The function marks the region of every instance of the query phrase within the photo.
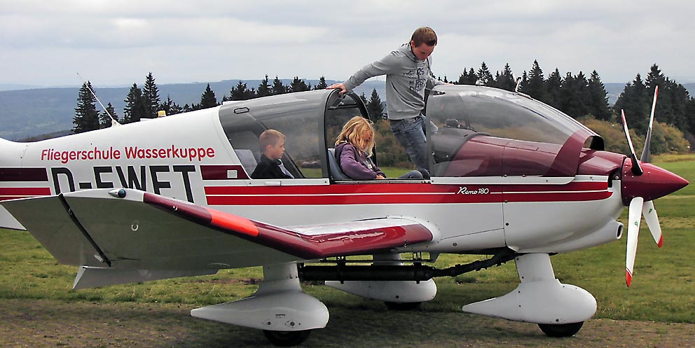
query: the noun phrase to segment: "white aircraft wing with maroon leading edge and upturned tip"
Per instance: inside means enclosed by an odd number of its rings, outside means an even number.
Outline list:
[[[209,274],[378,253],[433,238],[425,226],[406,218],[287,229],[132,189],[83,190],[0,204],[60,263],[112,270]]]

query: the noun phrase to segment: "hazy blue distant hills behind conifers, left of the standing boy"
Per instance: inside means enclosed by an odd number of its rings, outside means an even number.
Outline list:
[[[318,80],[306,80],[311,85],[316,85]],[[239,80],[225,80],[211,82],[210,88],[215,92],[220,101],[224,95],[229,95],[229,90],[237,85]],[[243,80],[247,88],[257,88],[261,80]],[[282,79],[284,85],[289,85],[291,80]],[[326,80],[329,85],[335,83]],[[205,91],[205,83],[176,83],[158,85],[160,98],[165,100],[169,96],[174,102],[184,104],[196,104],[200,102],[200,95]],[[9,86],[9,85],[4,85]],[[28,87],[28,86],[22,86]],[[139,85],[142,88],[142,85]],[[383,81],[367,81],[355,89],[357,94],[364,94],[369,98],[373,89],[380,96],[385,96],[385,84]],[[116,109],[116,113],[123,118],[123,107],[128,88],[96,88],[95,92],[104,105],[109,102]],[[0,91],[0,137],[9,140],[22,140],[38,137],[42,134],[64,134],[73,127],[72,118],[75,115],[79,88],[38,88],[24,90]],[[385,97],[382,97],[385,99]],[[97,104],[97,110],[102,111]]]

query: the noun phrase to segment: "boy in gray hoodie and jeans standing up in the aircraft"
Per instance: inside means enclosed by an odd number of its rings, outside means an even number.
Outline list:
[[[365,65],[343,83],[328,89],[352,91],[367,78],[386,75],[386,106],[391,131],[418,169],[429,169],[425,146],[425,89],[443,85],[432,76],[436,34],[430,27],[415,29],[411,41],[376,62]]]

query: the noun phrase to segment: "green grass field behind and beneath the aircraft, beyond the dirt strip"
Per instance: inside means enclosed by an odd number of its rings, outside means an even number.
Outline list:
[[[695,155],[663,156],[654,163],[695,182]],[[593,249],[551,258],[556,277],[591,292],[598,301],[596,318],[695,323],[695,185],[655,202],[664,234],[658,249],[645,224],[640,232],[635,278],[626,288],[626,238]],[[626,221],[624,211],[623,221]],[[441,256],[436,267],[475,260],[473,256]],[[152,281],[144,284],[71,290],[75,267],[58,265],[28,232],[0,230],[0,302],[9,300],[139,304],[165,302],[188,307],[238,300],[252,294],[261,278],[259,267],[222,270],[214,276]],[[518,284],[514,263],[490,270],[438,278],[437,297],[423,306],[427,318],[461,314],[461,305],[503,295]],[[380,302],[364,300],[326,286],[305,284],[305,291],[329,310],[384,312]],[[136,306],[136,303],[139,303]],[[168,305],[167,305],[168,306]],[[342,315],[342,314],[341,314]],[[359,320],[357,317],[347,320]],[[418,316],[420,314],[413,314]],[[425,315],[425,314],[422,314]],[[467,314],[466,314],[467,315]],[[406,316],[413,319],[413,316]],[[331,319],[332,320],[332,319]],[[407,320],[407,319],[404,319]],[[429,320],[429,319],[428,319]],[[446,330],[446,323],[441,323]]]

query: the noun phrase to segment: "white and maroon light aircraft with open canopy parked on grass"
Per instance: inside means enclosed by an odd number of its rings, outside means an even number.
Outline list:
[[[329,320],[301,279],[409,307],[434,298],[433,277],[514,260],[514,291],[462,309],[570,336],[596,299],[561,284],[550,256],[620,239],[629,207],[629,286],[640,215],[661,245],[652,201],[688,184],[648,163],[648,141],[641,160],[610,153],[546,104],[471,85],[428,97],[439,126],[427,134],[431,178],[354,181],[332,150],[356,115],[368,117],[356,95],[315,90],[32,143],[0,139],[0,227],[28,230],[78,266],[76,289],[263,266],[254,295],[191,315],[261,329],[277,345]],[[266,129],[287,136],[283,162],[296,179],[249,178]],[[441,253],[481,260],[423,265]]]

